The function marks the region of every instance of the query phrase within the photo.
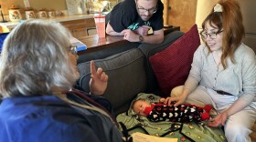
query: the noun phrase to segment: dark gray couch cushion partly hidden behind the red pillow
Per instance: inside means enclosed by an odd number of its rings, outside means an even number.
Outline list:
[[[166,47],[173,44],[179,37],[181,37],[184,33],[181,31],[174,31],[165,35],[165,40],[161,44],[141,44],[138,48],[144,53],[146,58],[144,66],[147,78],[147,87],[146,92],[152,93],[159,91],[159,86],[155,79],[155,74],[152,69],[152,66],[149,62],[149,57],[154,56],[156,53],[163,51]],[[160,94],[159,94],[160,95]]]

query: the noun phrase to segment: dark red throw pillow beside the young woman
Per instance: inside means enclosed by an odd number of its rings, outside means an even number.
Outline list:
[[[165,96],[169,96],[174,87],[184,85],[198,46],[200,39],[197,25],[193,25],[175,43],[149,58],[160,90]]]

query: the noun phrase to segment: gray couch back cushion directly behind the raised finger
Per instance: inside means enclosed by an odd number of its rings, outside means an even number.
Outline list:
[[[133,48],[123,53],[94,60],[96,67],[101,67],[109,76],[109,83],[104,94],[112,103],[114,113],[128,110],[133,97],[144,92],[146,78],[144,71],[144,55]],[[91,78],[90,62],[80,63],[80,86],[89,92]]]

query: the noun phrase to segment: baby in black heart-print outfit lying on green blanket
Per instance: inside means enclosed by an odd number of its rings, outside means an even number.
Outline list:
[[[165,98],[161,98],[160,102]],[[147,117],[150,121],[171,121],[171,122],[190,122],[204,121],[209,119],[209,111],[212,106],[204,107],[183,104],[180,106],[166,105],[163,103],[149,103],[144,99],[138,99],[133,102],[133,111]]]

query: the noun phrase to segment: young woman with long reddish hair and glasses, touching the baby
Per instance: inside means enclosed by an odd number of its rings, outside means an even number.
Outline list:
[[[167,103],[210,104],[219,114],[208,126],[224,126],[230,142],[251,141],[256,117],[256,59],[253,50],[242,44],[245,31],[239,3],[220,1],[202,27],[204,44],[194,54],[187,81],[181,93],[174,90]]]

